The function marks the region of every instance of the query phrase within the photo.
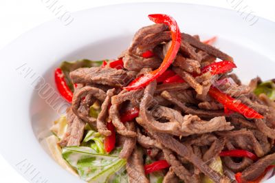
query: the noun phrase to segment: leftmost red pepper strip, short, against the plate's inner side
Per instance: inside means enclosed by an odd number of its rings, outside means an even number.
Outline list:
[[[69,103],[72,103],[73,92],[69,89],[65,76],[61,70],[61,68],[57,68],[54,72],[54,79],[56,81],[56,87],[58,92],[63,96]]]

